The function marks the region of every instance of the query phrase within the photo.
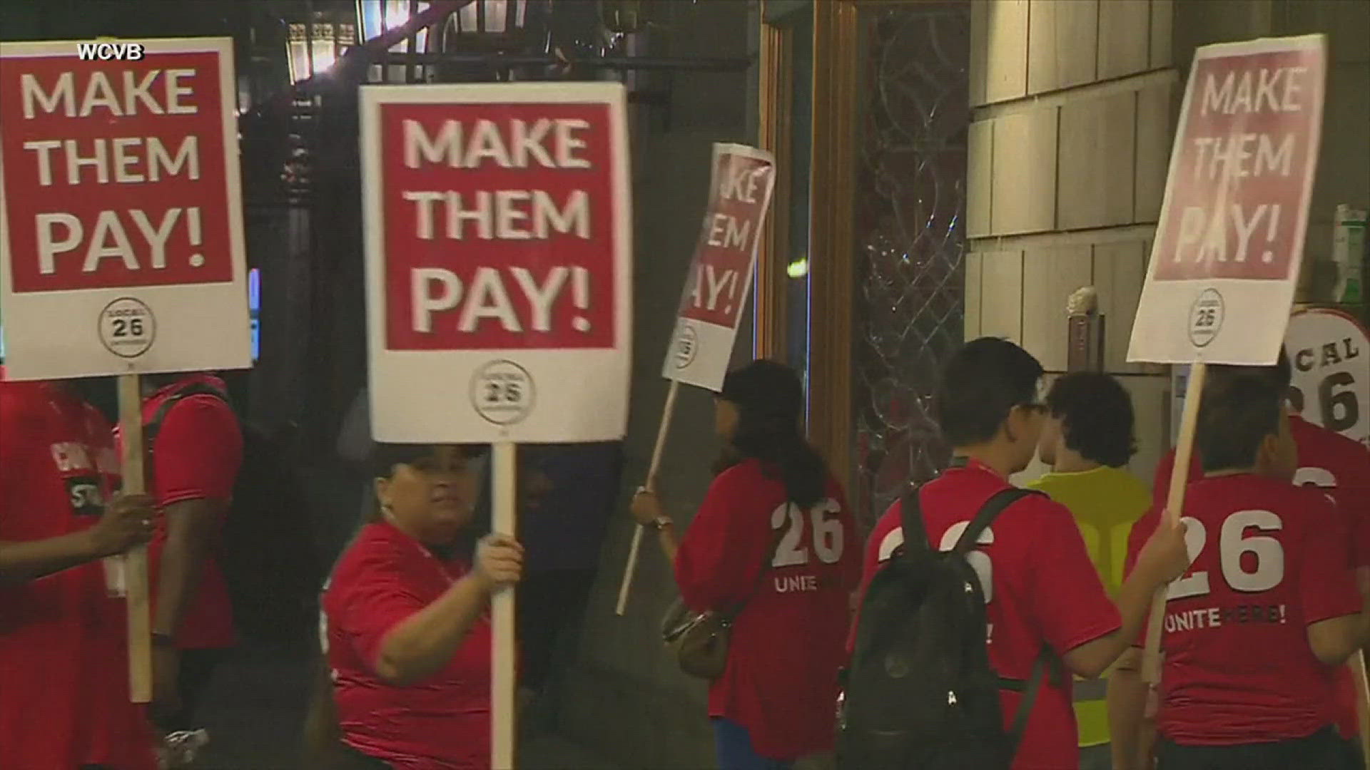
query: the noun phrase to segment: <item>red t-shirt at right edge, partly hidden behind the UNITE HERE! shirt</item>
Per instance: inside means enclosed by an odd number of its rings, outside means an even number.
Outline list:
[[[1295,484],[1319,486],[1337,501],[1343,530],[1349,534],[1351,566],[1370,566],[1370,449],[1345,436],[1314,425],[1302,417],[1289,418],[1289,429],[1299,447],[1299,471]],[[1164,506],[1170,490],[1170,471],[1175,463],[1171,449],[1156,469],[1154,499]],[[1191,459],[1191,481],[1203,477],[1199,454]],[[1356,718],[1356,684],[1351,670],[1337,673],[1337,729],[1343,737],[1360,733]]]

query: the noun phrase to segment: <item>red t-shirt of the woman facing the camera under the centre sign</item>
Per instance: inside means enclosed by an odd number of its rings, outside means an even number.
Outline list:
[[[482,617],[440,673],[408,686],[375,674],[381,641],[467,567],[388,522],[367,525],[323,593],[333,699],[344,741],[399,770],[489,770],[490,623]]]

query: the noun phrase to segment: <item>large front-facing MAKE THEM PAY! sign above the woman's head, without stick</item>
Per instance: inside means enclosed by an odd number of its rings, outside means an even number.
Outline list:
[[[623,104],[618,84],[362,89],[377,440],[623,436]]]

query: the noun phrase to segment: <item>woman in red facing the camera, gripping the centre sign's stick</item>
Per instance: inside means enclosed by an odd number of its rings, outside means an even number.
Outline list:
[[[489,599],[518,582],[523,549],[500,536],[471,543],[477,454],[375,452],[379,517],[348,547],[323,595],[332,700],[351,754],[329,767],[490,766]],[[474,559],[463,556],[473,549]]]

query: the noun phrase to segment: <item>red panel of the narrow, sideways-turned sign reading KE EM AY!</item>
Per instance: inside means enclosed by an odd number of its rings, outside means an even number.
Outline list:
[[[775,166],[729,151],[719,152],[714,163],[714,186],[680,315],[737,329]]]

